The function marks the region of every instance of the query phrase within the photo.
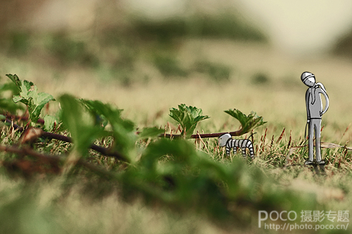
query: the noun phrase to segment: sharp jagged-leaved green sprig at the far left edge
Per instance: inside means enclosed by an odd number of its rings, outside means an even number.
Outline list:
[[[13,101],[15,103],[22,102],[27,106],[30,124],[35,125],[45,104],[54,100],[54,97],[45,92],[38,93],[37,86],[33,82],[20,80],[17,75],[7,74],[6,76],[15,83],[20,92],[13,96]]]

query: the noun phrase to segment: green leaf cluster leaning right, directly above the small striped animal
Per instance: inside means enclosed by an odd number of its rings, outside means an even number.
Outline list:
[[[264,125],[267,122],[263,121],[263,117],[257,116],[256,112],[251,112],[248,116],[237,109],[229,109],[225,111],[230,116],[236,118],[239,123],[241,123],[241,133],[239,135],[244,135],[249,133],[254,128],[258,128],[261,125]]]

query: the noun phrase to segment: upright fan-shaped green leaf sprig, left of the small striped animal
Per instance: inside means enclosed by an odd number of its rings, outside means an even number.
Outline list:
[[[178,105],[179,109],[171,108],[170,117],[180,123],[182,127],[182,136],[189,138],[199,121],[203,121],[209,116],[202,116],[203,111],[195,106],[186,106],[186,104]]]

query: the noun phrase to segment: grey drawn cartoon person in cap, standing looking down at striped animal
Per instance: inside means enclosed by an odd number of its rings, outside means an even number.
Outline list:
[[[324,85],[318,82],[315,83],[315,76],[312,73],[304,72],[301,75],[302,82],[309,88],[306,92],[306,108],[307,108],[307,123],[308,123],[308,160],[306,165],[312,165],[313,162],[313,137],[315,133],[315,158],[317,164],[325,165],[322,161],[320,150],[320,129],[322,123],[322,115],[329,108],[329,97]],[[322,99],[320,94],[325,97],[325,109],[322,111]]]

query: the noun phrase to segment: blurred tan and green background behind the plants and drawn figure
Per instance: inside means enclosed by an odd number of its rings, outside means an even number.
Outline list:
[[[339,137],[352,115],[351,10],[347,0],[1,1],[0,76],[111,102],[141,125],[185,103],[213,130],[236,108],[302,135],[308,70]]]

